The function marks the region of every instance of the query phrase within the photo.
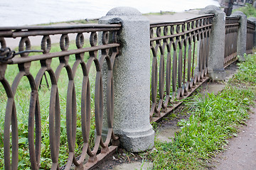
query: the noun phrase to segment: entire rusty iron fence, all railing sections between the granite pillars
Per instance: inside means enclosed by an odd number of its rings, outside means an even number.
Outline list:
[[[186,21],[150,24],[151,121],[161,120],[182,103],[181,99],[208,80],[213,17],[210,14]],[[226,67],[237,59],[239,18],[227,17],[225,22]],[[23,77],[27,78],[26,92],[31,93],[24,114],[28,120],[26,139],[31,169],[41,168],[42,125],[47,123],[52,162],[48,162],[49,169],[89,169],[117,148],[119,140],[113,132],[112,71],[119,47],[125,45],[117,40],[121,29],[119,24],[0,28],[0,88],[6,95],[6,100],[1,98],[6,108],[5,169],[18,169],[18,154],[21,152],[18,134],[21,130],[18,129],[17,91],[24,85],[21,83]],[[254,30],[255,24],[248,21],[247,52],[252,52]],[[53,51],[51,40],[55,36],[60,42]],[[41,38],[39,49],[31,43],[33,37]],[[9,47],[9,39],[15,38],[20,38],[16,51]],[[12,80],[6,76],[10,69],[17,69]],[[61,79],[63,74],[65,77]],[[64,89],[66,96],[60,95],[60,89]],[[41,96],[43,90],[50,95]],[[42,103],[42,98],[47,98],[48,106],[45,106],[46,102]],[[102,137],[104,113],[106,139]],[[43,115],[47,115],[46,118]],[[60,147],[63,147],[60,133],[63,128],[66,130],[68,158],[60,167]],[[94,140],[91,140],[90,132],[95,134]],[[76,141],[78,133],[82,139],[80,146]],[[78,150],[80,152],[76,153]]]

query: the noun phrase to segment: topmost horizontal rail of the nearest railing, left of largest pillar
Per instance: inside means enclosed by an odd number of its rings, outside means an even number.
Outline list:
[[[68,33],[85,33],[104,30],[119,30],[120,24],[83,24],[75,26],[17,26],[0,27],[0,37],[17,38],[36,35],[55,35]]]

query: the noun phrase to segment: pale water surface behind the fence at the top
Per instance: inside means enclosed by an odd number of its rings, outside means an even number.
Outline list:
[[[25,26],[85,18],[100,18],[117,6],[132,6],[142,13],[185,11],[219,6],[214,0],[1,0],[0,26]]]

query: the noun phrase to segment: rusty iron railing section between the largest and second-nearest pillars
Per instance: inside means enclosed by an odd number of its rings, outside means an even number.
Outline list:
[[[151,121],[159,121],[208,79],[209,36],[214,15],[152,23]]]

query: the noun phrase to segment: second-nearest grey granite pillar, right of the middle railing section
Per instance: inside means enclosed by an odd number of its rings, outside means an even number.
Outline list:
[[[215,14],[210,33],[208,75],[213,80],[225,80],[225,13],[218,6],[206,6],[200,14]]]

